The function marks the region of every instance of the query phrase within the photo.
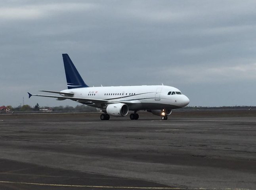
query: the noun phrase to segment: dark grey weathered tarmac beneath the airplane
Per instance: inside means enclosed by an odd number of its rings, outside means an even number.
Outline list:
[[[0,114],[0,190],[255,190],[256,110]]]

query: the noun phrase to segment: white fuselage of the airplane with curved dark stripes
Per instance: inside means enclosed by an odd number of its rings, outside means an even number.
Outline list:
[[[180,90],[171,86],[108,86],[108,87],[85,87],[66,89],[61,92],[74,93],[74,97],[88,99],[102,99],[108,101],[129,102],[129,110],[147,109],[175,109],[181,108],[189,103],[189,99],[180,93]],[[170,92],[179,92],[170,94]],[[169,95],[168,95],[169,93]],[[81,102],[80,103],[104,108],[102,103]]]

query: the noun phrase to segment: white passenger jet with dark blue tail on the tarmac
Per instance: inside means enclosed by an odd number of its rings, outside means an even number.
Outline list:
[[[31,96],[52,97],[57,100],[70,99],[84,105],[100,108],[103,112],[101,120],[109,120],[110,116],[124,117],[129,111],[131,120],[138,120],[139,110],[147,110],[167,120],[172,109],[182,108],[189,104],[189,99],[175,87],[162,85],[153,86],[102,86],[89,87],[80,76],[68,54],[62,54],[68,89],[62,91],[42,92],[59,95]]]

